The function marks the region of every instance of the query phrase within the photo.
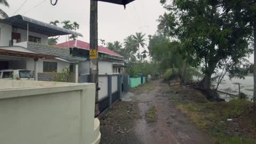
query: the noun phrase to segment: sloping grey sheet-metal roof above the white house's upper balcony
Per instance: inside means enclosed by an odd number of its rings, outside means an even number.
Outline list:
[[[20,28],[20,29],[25,29],[25,30],[27,29],[27,23],[28,23],[29,31],[33,31],[33,32],[39,33],[39,34],[44,34],[47,36],[73,34],[76,36],[83,37],[82,34],[77,33],[75,31],[71,31],[71,30],[68,30],[65,28],[53,26],[53,25],[50,25],[49,23],[31,19],[31,18],[25,17],[23,15],[15,15],[13,17],[1,19],[0,22],[6,23],[8,25],[12,25],[12,26]]]

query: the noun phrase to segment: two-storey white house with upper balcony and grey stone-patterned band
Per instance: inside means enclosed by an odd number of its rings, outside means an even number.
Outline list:
[[[73,64],[84,60],[72,58],[68,47],[48,45],[48,37],[70,34],[82,36],[82,34],[75,31],[53,26],[22,15],[1,19],[0,49],[15,51],[16,53],[28,52],[52,55],[55,59],[28,59],[26,57],[0,55],[0,70],[30,69],[37,71],[38,80],[51,81],[54,73],[69,67],[70,63]],[[37,70],[35,70],[35,66]]]

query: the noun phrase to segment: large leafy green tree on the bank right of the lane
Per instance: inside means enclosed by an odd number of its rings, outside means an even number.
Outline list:
[[[247,23],[237,21],[234,13],[225,13],[222,1],[177,0],[161,3],[170,11],[168,27],[181,43],[180,51],[190,66],[203,65],[204,87],[210,88],[211,76],[222,62],[234,63],[252,51],[248,47],[251,31]],[[163,23],[163,22],[162,22]],[[160,23],[159,25],[162,25]]]

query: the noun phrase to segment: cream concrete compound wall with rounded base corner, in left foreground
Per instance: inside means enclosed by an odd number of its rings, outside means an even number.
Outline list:
[[[95,84],[0,80],[4,144],[99,143]]]

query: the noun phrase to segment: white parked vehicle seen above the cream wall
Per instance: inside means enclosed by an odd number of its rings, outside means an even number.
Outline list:
[[[33,71],[27,69],[3,69],[0,70],[0,79],[17,79],[34,81]]]

